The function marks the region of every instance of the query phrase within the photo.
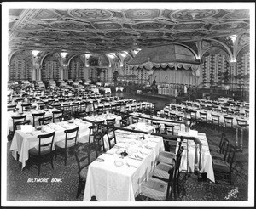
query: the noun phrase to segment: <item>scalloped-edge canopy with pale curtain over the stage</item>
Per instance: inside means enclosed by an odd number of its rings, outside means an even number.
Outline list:
[[[151,82],[157,83],[197,85],[200,76],[200,60],[189,48],[177,44],[143,48],[128,65],[147,70]]]

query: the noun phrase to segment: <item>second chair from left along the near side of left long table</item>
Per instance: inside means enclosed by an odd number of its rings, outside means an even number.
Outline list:
[[[64,156],[64,165],[67,165],[67,156],[73,155],[73,150],[75,145],[77,144],[79,127],[74,127],[72,129],[64,130],[65,139],[58,141],[55,143],[56,150],[55,150],[55,159],[57,155]]]

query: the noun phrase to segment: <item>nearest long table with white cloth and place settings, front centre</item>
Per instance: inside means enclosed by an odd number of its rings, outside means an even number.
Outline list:
[[[161,137],[146,134],[143,140],[138,133],[117,132],[123,134],[121,139],[117,136],[118,143],[98,157],[101,161],[90,163],[84,201],[90,201],[91,196],[98,201],[135,201],[140,188],[138,179],[145,174],[149,177],[160,151],[164,150]],[[125,149],[128,156],[120,158]]]

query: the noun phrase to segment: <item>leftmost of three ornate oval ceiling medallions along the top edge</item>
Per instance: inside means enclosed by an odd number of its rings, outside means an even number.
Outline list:
[[[73,9],[68,14],[83,20],[108,20],[113,17],[112,12],[102,9]]]

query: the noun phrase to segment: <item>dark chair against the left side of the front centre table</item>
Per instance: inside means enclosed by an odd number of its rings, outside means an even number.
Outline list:
[[[89,144],[76,144],[74,148],[74,155],[76,157],[77,165],[78,165],[78,174],[79,174],[79,186],[76,198],[79,197],[82,190],[84,190],[85,180],[87,177],[88,166],[90,162],[93,161],[91,159],[92,147]]]

